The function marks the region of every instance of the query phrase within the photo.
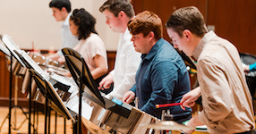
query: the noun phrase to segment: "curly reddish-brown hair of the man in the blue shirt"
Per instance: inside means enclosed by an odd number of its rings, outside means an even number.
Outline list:
[[[138,13],[127,25],[132,35],[142,33],[146,37],[150,31],[153,31],[157,40],[163,37],[162,21],[156,13],[149,11]]]

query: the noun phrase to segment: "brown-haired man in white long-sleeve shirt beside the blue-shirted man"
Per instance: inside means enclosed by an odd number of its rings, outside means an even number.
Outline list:
[[[99,83],[99,89],[113,90],[107,97],[115,96],[122,99],[124,93],[135,83],[135,73],[141,62],[140,54],[132,47],[132,35],[127,29],[127,23],[134,16],[132,4],[129,0],[107,0],[99,11],[106,16],[106,23],[110,29],[120,33],[115,56],[115,68]]]

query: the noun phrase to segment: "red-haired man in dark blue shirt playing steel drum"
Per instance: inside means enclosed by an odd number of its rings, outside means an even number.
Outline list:
[[[189,120],[192,109],[179,105],[156,108],[156,105],[180,102],[190,91],[189,73],[182,57],[163,39],[162,21],[157,14],[144,11],[128,22],[135,50],[141,53],[141,65],[136,73],[136,84],[124,94],[124,102],[139,97],[139,108],[158,119],[168,110],[173,121]],[[163,119],[164,120],[164,119]]]

